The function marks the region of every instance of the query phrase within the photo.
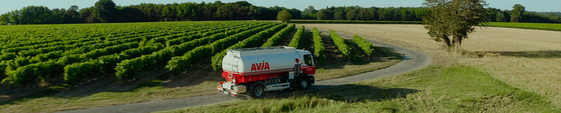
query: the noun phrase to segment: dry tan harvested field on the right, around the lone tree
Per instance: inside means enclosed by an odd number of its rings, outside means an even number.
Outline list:
[[[487,27],[449,53],[419,24],[298,24],[394,43],[433,56],[433,65],[471,65],[519,89],[561,106],[561,32]]]

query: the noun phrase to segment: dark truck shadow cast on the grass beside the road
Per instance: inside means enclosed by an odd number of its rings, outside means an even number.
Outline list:
[[[288,97],[320,97],[336,101],[362,102],[362,101],[381,101],[406,98],[408,94],[415,94],[420,90],[402,88],[383,88],[367,85],[313,85],[312,90],[305,91],[277,91],[271,92],[265,98],[288,98]],[[326,88],[329,87],[329,88]]]

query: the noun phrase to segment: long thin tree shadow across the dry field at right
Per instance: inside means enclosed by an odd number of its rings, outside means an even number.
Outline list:
[[[494,56],[512,56],[519,58],[561,58],[561,51],[549,50],[549,51],[494,51],[494,52],[463,52],[462,55],[468,55],[472,57],[494,57]]]

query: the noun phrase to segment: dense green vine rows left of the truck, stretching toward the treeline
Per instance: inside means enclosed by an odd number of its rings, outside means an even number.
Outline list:
[[[226,49],[259,47],[293,28],[264,21],[1,26],[0,79],[25,86],[107,74],[126,81],[159,66],[177,73],[205,58],[222,60]]]

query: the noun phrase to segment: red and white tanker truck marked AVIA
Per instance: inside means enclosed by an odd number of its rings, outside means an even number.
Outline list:
[[[307,89],[315,82],[316,66],[310,51],[294,47],[227,50],[217,91],[233,97],[261,97],[265,91]]]

